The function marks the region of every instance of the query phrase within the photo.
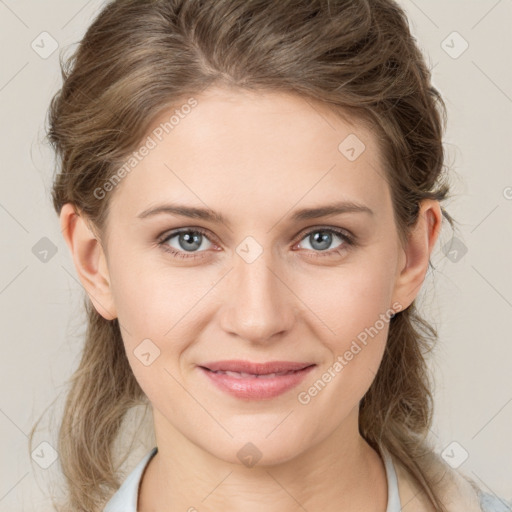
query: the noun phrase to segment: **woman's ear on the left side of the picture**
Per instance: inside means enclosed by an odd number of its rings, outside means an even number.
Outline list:
[[[72,203],[63,205],[60,227],[71,252],[78,277],[96,311],[106,320],[117,318],[107,259],[88,219]]]

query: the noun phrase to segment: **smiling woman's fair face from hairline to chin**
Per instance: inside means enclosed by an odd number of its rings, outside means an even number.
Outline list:
[[[157,435],[238,463],[251,442],[269,464],[341,429],[351,441],[391,308],[409,305],[374,136],[292,95],[196,100],[161,141],[153,130],[173,112],[156,120],[107,226],[112,304]],[[165,210],[178,206],[223,221]],[[226,360],[309,368],[239,385],[201,368]]]

